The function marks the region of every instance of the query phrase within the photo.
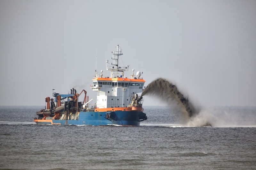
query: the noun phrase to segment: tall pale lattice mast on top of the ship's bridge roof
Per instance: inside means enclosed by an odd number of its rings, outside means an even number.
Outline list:
[[[111,71],[111,78],[117,78],[118,76],[118,72],[122,72],[120,77],[125,78],[124,77],[124,71],[128,71],[128,65],[125,67],[119,67],[118,66],[118,59],[120,55],[123,55],[122,49],[119,47],[119,45],[116,46],[116,51],[112,51],[112,60],[113,63],[111,63],[112,66],[108,66],[108,60],[107,60],[107,70]],[[115,74],[115,76],[114,76]]]

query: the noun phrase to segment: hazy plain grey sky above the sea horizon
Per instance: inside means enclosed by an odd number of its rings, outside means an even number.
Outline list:
[[[146,85],[162,77],[200,105],[255,106],[255,9],[254,0],[0,0],[0,105],[44,105],[53,88],[95,99],[96,51],[106,76],[119,44],[120,62]]]

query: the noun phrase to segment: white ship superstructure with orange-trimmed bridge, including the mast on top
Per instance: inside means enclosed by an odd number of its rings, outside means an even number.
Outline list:
[[[109,108],[109,107],[127,107],[131,101],[131,97],[134,94],[142,92],[145,88],[145,80],[141,78],[140,71],[134,75],[134,69],[132,69],[132,75],[130,78],[126,78],[124,71],[128,71],[129,66],[119,67],[118,57],[123,55],[121,48],[117,45],[116,51],[112,52],[114,60],[108,65],[107,70],[111,71],[111,77],[103,77],[103,71],[101,74],[96,72],[95,77],[92,79],[93,84],[91,89],[97,91],[97,108]]]

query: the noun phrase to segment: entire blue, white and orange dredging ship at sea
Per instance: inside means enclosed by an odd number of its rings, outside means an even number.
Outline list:
[[[140,126],[140,122],[147,120],[143,113],[143,98],[138,96],[145,88],[142,73],[138,71],[130,78],[126,78],[124,72],[129,66],[120,67],[118,58],[123,55],[119,45],[112,51],[113,63],[107,63],[107,71],[110,77],[103,77],[96,71],[90,85],[93,91],[97,92],[97,103],[90,105],[86,91],[77,93],[74,88],[67,94],[53,92],[54,99],[45,98],[45,109],[36,112],[34,121],[38,124],[53,125],[123,125]],[[53,89],[54,90],[54,89]],[[80,95],[84,92],[83,102],[79,101]],[[66,100],[66,101],[65,101]],[[89,101],[88,101],[89,100]]]

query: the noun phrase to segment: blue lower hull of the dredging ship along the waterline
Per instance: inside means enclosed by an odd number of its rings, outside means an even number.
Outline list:
[[[140,111],[84,112],[81,111],[77,120],[37,119],[38,124],[55,125],[121,125],[140,126],[146,120],[145,113]]]

